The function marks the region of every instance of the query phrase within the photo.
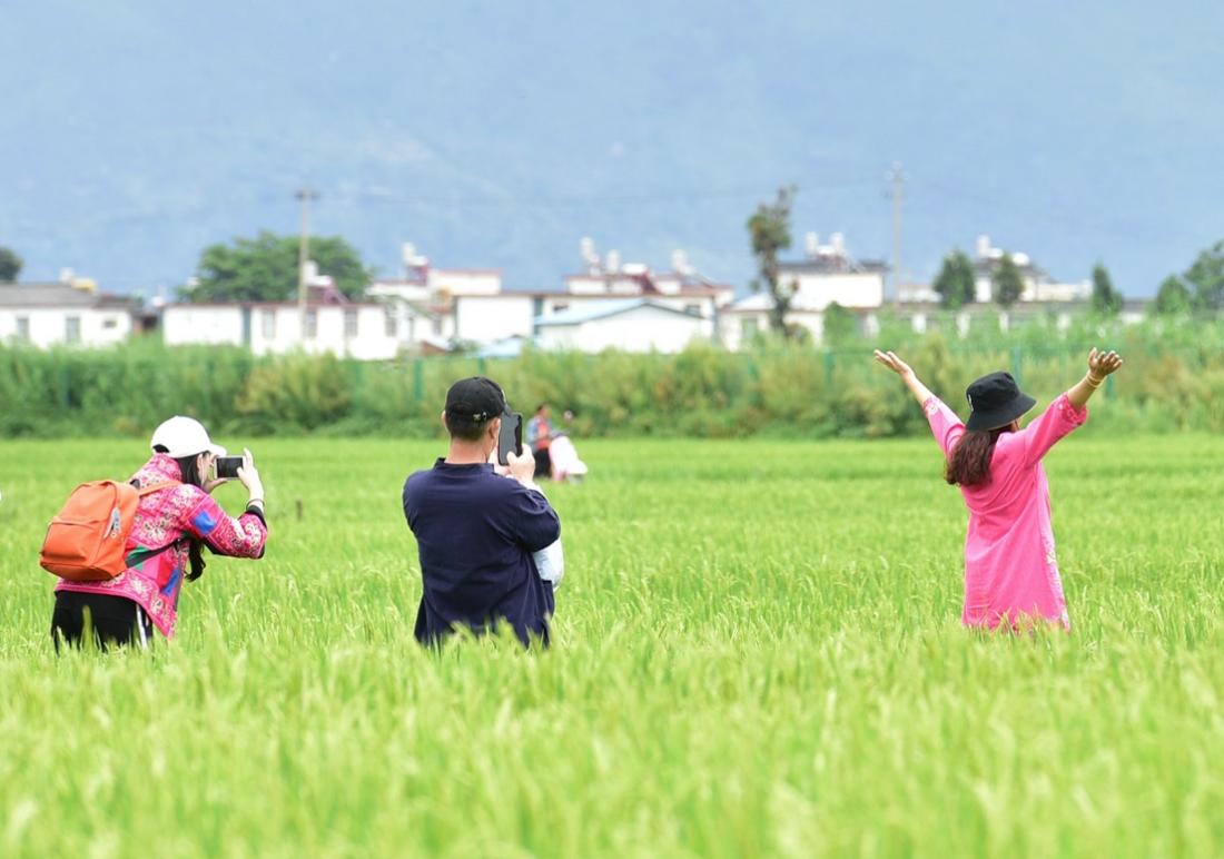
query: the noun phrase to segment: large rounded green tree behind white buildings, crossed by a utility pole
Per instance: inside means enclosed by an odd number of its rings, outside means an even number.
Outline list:
[[[184,289],[184,297],[196,302],[291,300],[297,295],[297,241],[264,230],[233,245],[211,245],[200,255],[198,283]],[[373,277],[339,236],[311,239],[310,257],[350,299],[360,296]]]

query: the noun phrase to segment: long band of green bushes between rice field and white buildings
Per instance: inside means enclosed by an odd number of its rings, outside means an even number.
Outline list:
[[[1038,318],[1006,337],[971,330],[960,338],[950,334],[951,318],[942,323],[918,337],[887,316],[881,321],[887,345],[962,414],[965,387],[977,376],[1010,370],[1048,400],[1080,377],[1089,345],[1118,345],[1126,366],[1102,392],[1104,422],[1224,431],[1224,324],[1157,319],[1124,329],[1084,319],[1060,332]],[[476,373],[496,378],[525,414],[540,401],[558,416],[572,410],[570,430],[580,437],[925,432],[908,393],[873,363],[862,341],[837,351],[763,339],[744,352],[710,345],[678,355],[529,349],[513,360],[362,363],[135,340],[97,351],[0,346],[0,436],[142,436],[175,414],[252,434],[433,436],[447,388]]]

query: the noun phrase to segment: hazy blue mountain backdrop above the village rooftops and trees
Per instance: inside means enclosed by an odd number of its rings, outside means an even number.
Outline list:
[[[181,284],[209,242],[312,229],[554,285],[581,236],[752,277],[744,221],[799,186],[794,229],[903,268],[988,232],[1130,295],[1224,236],[1224,6],[1027,4],[184,5],[0,11],[0,245],[28,279]]]

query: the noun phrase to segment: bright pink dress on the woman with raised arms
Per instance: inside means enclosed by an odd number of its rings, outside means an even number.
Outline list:
[[[965,425],[939,398],[923,406],[935,441],[949,456]],[[1020,432],[999,437],[990,459],[990,478],[961,487],[969,508],[965,540],[966,627],[994,629],[1043,618],[1071,628],[1062,580],[1054,554],[1050,487],[1042,458],[1055,442],[1083,423],[1087,409],[1076,409],[1066,394]]]

